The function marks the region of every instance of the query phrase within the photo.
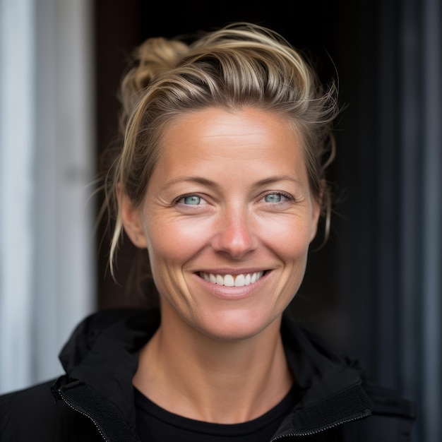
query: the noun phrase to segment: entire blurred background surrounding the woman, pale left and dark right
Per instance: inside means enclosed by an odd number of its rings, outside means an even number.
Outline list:
[[[440,441],[440,0],[0,0],[0,393],[59,375],[59,350],[88,313],[143,305],[124,288],[129,241],[116,284],[95,225],[119,81],[145,38],[237,20],[309,54],[345,107],[333,232],[292,311],[417,403],[415,441]]]

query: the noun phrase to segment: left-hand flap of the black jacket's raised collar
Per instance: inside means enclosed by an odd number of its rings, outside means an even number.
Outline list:
[[[159,325],[159,312],[150,310],[119,309],[88,316],[59,354],[66,376],[56,381],[54,395],[90,417],[109,440],[138,440],[132,378],[138,351]],[[106,429],[100,425],[103,419]]]

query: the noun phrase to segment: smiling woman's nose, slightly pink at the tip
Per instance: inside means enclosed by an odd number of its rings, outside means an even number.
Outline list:
[[[253,232],[252,216],[244,208],[232,208],[220,213],[212,241],[213,249],[230,258],[241,259],[256,250],[258,237]]]

